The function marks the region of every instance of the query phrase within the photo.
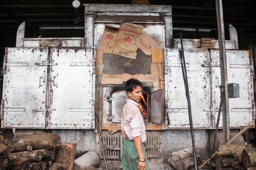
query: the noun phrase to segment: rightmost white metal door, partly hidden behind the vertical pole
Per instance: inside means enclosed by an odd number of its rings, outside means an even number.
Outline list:
[[[219,50],[211,50],[211,64],[220,64]],[[244,127],[252,124],[253,77],[250,53],[247,50],[227,50],[228,83],[238,83],[240,97],[229,98],[230,127]],[[220,104],[220,67],[211,67],[212,107],[219,109]],[[218,111],[212,112],[213,127],[216,126]],[[222,113],[219,127],[222,127]]]

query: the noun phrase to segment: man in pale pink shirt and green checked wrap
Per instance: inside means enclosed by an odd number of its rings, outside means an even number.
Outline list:
[[[123,142],[122,166],[123,170],[148,170],[145,153],[146,130],[138,101],[142,96],[142,83],[137,79],[129,79],[125,83],[128,95],[122,111]]]

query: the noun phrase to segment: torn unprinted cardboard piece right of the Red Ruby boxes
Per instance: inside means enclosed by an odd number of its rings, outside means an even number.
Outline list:
[[[139,37],[137,37],[134,43],[144,54],[148,56],[151,56],[151,46],[158,46],[157,42],[155,42],[155,40],[153,40],[153,38],[151,38],[151,36],[149,36],[146,32],[143,32]]]

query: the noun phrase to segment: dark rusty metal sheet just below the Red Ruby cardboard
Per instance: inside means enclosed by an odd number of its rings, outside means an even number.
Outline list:
[[[103,74],[151,74],[151,56],[137,50],[135,60],[114,54],[103,53]]]

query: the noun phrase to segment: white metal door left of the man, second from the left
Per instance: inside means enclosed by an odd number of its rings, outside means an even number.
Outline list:
[[[50,106],[56,109],[50,112],[50,128],[94,128],[93,51],[87,47],[51,49],[51,62],[58,65],[50,68]]]

